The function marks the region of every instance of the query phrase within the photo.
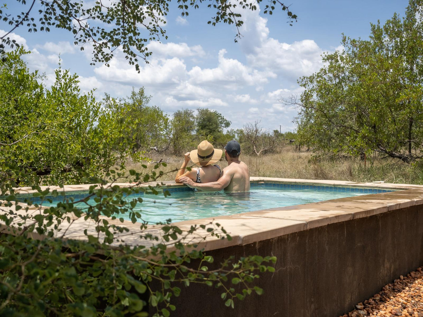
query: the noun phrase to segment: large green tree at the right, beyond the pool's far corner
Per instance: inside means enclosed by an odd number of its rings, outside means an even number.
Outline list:
[[[325,66],[302,77],[299,141],[324,153],[373,151],[411,162],[423,157],[422,1],[406,15],[371,25],[368,40],[343,37],[344,51],[325,54]]]

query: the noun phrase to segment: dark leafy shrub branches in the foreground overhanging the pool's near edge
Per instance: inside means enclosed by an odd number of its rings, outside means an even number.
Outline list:
[[[25,199],[29,205],[22,207],[14,201],[14,189],[3,182],[1,194],[6,196],[0,205],[0,221],[8,234],[0,235],[0,314],[148,316],[149,306],[154,316],[167,317],[176,309],[172,299],[182,292],[179,286],[193,282],[220,288],[226,306],[233,307],[234,300],[251,292],[261,294],[253,282],[258,272],[274,271],[266,263],[275,263],[275,257],[231,257],[211,264],[213,257],[187,245],[195,236],[231,239],[219,224],[192,226],[183,232],[167,222],[155,226],[156,231],[148,230],[142,212],[134,210],[142,198],[127,195],[147,190],[157,194],[153,186],[138,186],[160,175],[155,171],[141,175],[133,170],[124,175],[111,170],[107,177],[113,176],[114,182],[135,184],[122,188],[90,178],[86,181],[99,185],[90,187],[89,197],[64,199],[49,208],[42,202],[32,205],[30,199]],[[59,195],[58,189],[33,189],[33,196],[42,201],[51,202]],[[77,207],[78,202],[85,207]],[[130,231],[118,221],[123,213],[133,223],[140,221],[139,230]],[[85,238],[63,240],[77,222],[86,228],[81,232]],[[139,242],[125,245],[132,234]],[[193,266],[192,261],[198,264]]]

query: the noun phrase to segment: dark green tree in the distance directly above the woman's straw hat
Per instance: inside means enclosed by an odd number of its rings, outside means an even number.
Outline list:
[[[208,108],[198,108],[195,117],[195,126],[197,135],[200,138],[210,138],[215,143],[225,143],[223,128],[228,128],[231,121],[227,120],[216,110]]]

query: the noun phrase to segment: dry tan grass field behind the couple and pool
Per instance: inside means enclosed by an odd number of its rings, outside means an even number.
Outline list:
[[[176,170],[182,164],[183,157],[151,156],[153,161],[169,161],[160,170],[165,172],[161,180],[174,180]],[[423,183],[423,169],[418,164],[405,164],[398,160],[371,158],[364,167],[364,161],[357,158],[343,158],[336,160],[318,160],[311,152],[298,152],[291,146],[286,146],[280,153],[263,156],[242,155],[241,160],[250,168],[251,176],[348,180],[357,182],[372,182],[383,180],[385,183]],[[144,162],[146,164],[146,162]],[[227,162],[222,159],[218,164],[224,168]],[[154,169],[154,163],[147,164],[147,171]],[[128,162],[127,169],[145,172],[141,163]]]

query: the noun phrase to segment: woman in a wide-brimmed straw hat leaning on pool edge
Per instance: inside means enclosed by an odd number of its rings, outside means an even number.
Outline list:
[[[185,153],[184,163],[176,174],[175,182],[180,183],[179,180],[182,176],[191,178],[195,183],[215,182],[220,178],[222,171],[219,165],[214,163],[220,160],[222,152],[223,150],[213,148],[213,145],[204,140],[198,145],[197,150]],[[185,172],[190,160],[199,167]]]

